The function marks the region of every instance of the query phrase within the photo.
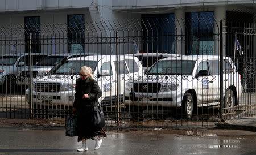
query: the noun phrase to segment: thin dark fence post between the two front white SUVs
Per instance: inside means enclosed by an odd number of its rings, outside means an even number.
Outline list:
[[[117,108],[116,108],[116,111],[117,111],[117,121],[116,123],[119,124],[119,121],[120,121],[120,114],[119,114],[119,62],[118,62],[118,57],[119,57],[119,48],[118,48],[118,43],[119,43],[119,33],[118,31],[115,32],[115,67],[116,67],[116,72],[117,72],[117,75],[115,76],[117,79],[115,80],[116,81],[116,104],[117,104]]]

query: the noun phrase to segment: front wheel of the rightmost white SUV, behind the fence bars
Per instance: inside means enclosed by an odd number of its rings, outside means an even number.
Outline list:
[[[193,97],[190,93],[185,93],[182,104],[181,104],[181,114],[185,118],[191,118],[193,114]]]

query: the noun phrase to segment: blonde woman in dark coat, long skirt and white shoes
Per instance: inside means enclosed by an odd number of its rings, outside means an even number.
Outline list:
[[[80,78],[76,80],[75,101],[73,112],[77,114],[77,141],[82,141],[82,147],[77,151],[86,151],[88,147],[86,140],[96,141],[95,150],[99,149],[102,143],[101,137],[106,137],[103,128],[96,130],[92,125],[94,108],[98,106],[98,98],[101,97],[101,89],[93,78],[92,69],[87,66],[81,67]]]

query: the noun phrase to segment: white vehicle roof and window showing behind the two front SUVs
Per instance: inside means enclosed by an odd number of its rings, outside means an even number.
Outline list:
[[[137,57],[139,61],[141,61],[144,73],[146,73],[147,70],[160,59],[179,56],[179,54],[170,53],[133,53],[127,55]]]

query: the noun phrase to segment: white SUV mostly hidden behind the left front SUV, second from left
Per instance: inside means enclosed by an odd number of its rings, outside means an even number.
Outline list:
[[[65,54],[51,54],[47,55],[41,59],[40,62],[36,63],[35,66],[32,66],[32,78],[36,78],[37,76],[46,75],[53,67],[55,67],[58,63],[61,63],[63,59],[87,56],[87,55],[95,55],[94,53],[65,53]],[[30,67],[26,66],[21,71],[18,72],[17,84],[28,86],[30,83]]]

